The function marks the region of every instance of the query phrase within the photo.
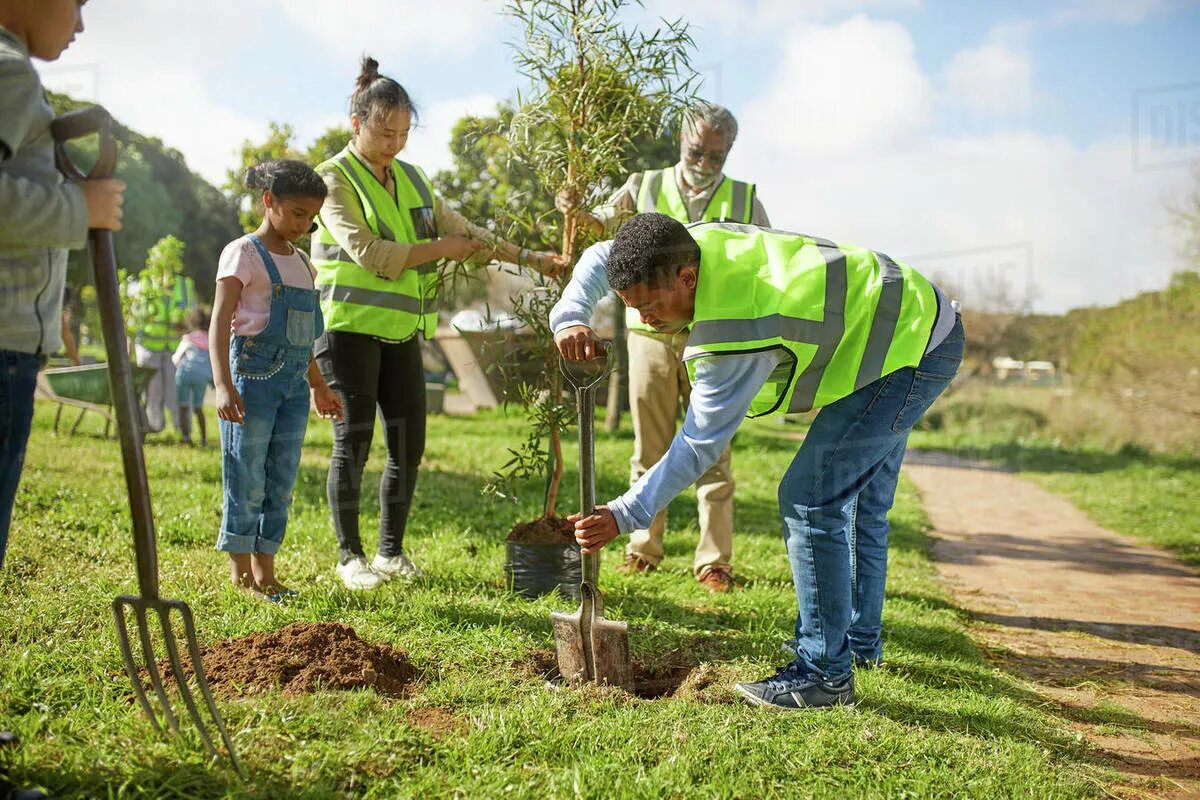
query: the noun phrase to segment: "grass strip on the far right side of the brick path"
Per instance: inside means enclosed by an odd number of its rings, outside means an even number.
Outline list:
[[[972,387],[940,402],[910,446],[1012,467],[1098,524],[1200,567],[1200,457],[1194,447],[1162,451],[1136,422],[1135,414],[1086,393]],[[1178,423],[1195,426],[1184,417]]]

